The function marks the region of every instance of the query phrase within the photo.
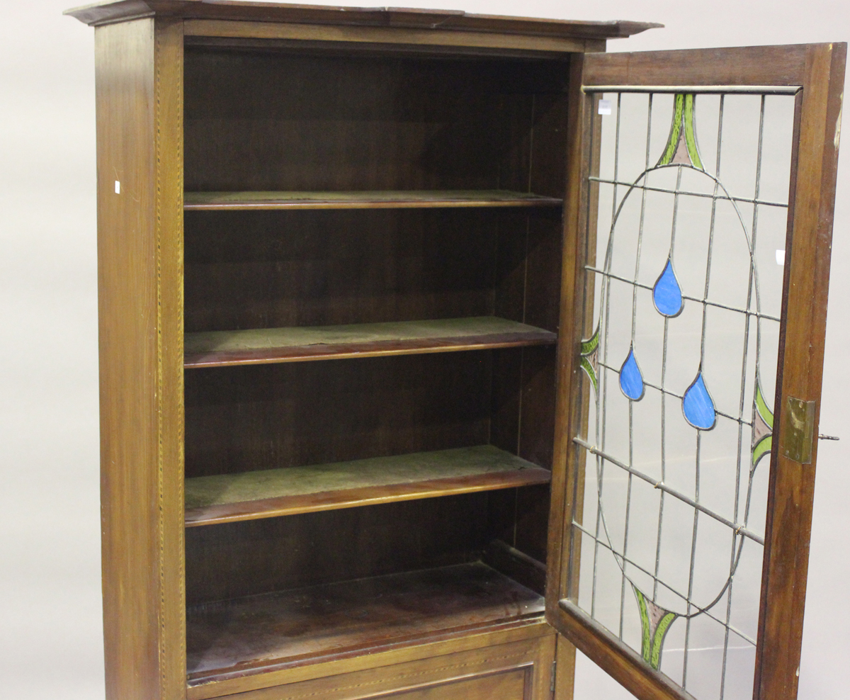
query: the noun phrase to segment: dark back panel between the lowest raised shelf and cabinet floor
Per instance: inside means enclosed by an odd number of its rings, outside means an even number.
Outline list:
[[[186,530],[188,605],[475,561],[487,493]]]

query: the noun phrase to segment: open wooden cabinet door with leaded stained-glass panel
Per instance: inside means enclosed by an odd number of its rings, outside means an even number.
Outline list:
[[[547,619],[641,700],[796,697],[846,52],[572,69]]]

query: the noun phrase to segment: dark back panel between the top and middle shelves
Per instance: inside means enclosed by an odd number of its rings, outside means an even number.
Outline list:
[[[457,209],[188,212],[186,331],[489,316],[502,283],[497,230],[524,248],[525,219]]]

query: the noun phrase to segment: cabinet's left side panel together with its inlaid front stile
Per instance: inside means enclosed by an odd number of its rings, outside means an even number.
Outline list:
[[[95,32],[109,700],[185,692],[182,47],[167,20]]]

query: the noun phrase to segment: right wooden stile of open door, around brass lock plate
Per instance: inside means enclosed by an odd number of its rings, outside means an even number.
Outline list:
[[[755,700],[793,700],[799,681],[846,56],[843,43],[808,47],[797,94]],[[814,401],[811,464],[785,456],[791,396]]]

